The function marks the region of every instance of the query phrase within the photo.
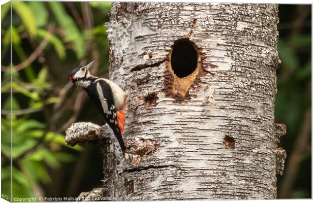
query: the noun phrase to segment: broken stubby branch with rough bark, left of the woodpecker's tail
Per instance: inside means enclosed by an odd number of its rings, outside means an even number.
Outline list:
[[[66,130],[66,143],[72,147],[77,143],[98,143],[104,138],[101,128],[90,122],[73,123]]]

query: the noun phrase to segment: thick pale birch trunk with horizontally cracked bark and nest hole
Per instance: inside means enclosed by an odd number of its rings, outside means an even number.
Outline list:
[[[127,90],[124,140],[104,153],[105,197],[276,197],[277,5],[113,3],[110,79]],[[276,130],[277,129],[277,130]],[[137,163],[138,162],[138,163]]]

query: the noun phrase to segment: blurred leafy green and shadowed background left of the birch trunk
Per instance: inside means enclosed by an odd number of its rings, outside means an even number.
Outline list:
[[[11,27],[11,3],[2,5],[3,194],[10,196],[11,188],[11,87],[13,196],[75,197],[102,185],[99,148],[69,147],[64,133],[79,120],[103,124],[101,116],[94,116],[97,110],[88,108],[92,105],[84,92],[69,82],[69,73],[75,66],[95,60],[92,72],[107,77],[104,23],[110,6],[109,2],[14,1]],[[98,66],[102,68],[98,70]]]

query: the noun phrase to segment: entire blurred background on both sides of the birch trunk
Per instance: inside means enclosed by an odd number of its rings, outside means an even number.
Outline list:
[[[69,73],[95,60],[92,74],[108,77],[104,23],[109,2],[12,2],[13,195],[76,197],[100,187],[98,146],[65,145],[73,122],[103,118]],[[10,196],[10,9],[2,5],[2,193]],[[311,6],[279,6],[275,120],[287,124],[280,140],[288,153],[278,177],[279,198],[311,197]],[[92,173],[91,173],[92,172]]]

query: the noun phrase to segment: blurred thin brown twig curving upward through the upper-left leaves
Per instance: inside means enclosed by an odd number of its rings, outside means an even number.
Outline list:
[[[35,49],[35,51],[33,53],[31,53],[29,55],[29,57],[26,60],[24,60],[23,62],[21,62],[17,65],[14,65],[14,70],[16,72],[24,69],[27,65],[32,63],[36,58],[38,58],[41,55],[41,53],[43,52],[43,50],[45,49],[45,47],[49,43],[49,39],[51,38],[51,32],[53,30],[53,27],[54,26],[52,24],[49,24],[48,25],[48,33],[46,34],[46,36],[45,36],[44,40],[41,42],[41,44]],[[1,71],[9,73],[10,68],[7,66],[1,65]]]

